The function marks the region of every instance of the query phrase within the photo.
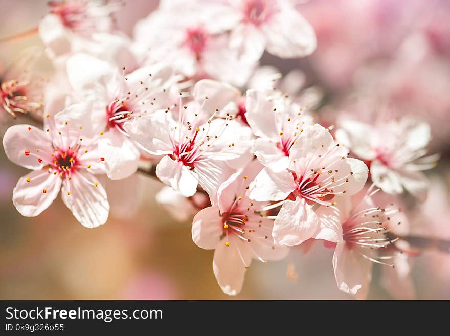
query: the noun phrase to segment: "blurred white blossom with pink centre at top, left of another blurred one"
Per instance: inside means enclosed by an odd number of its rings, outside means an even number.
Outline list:
[[[229,37],[217,34],[214,26],[215,20],[201,6],[165,2],[134,27],[134,50],[145,55],[146,64],[166,62],[187,78],[211,78],[241,86],[255,63],[239,62],[237,51],[229,47]]]

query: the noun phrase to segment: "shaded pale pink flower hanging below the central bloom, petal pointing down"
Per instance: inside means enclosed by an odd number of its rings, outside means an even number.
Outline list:
[[[223,292],[236,295],[252,259],[263,263],[280,260],[286,247],[276,247],[273,219],[266,216],[267,203],[246,196],[249,181],[261,170],[253,161],[225,181],[217,190],[217,203],[200,210],[192,222],[192,239],[202,249],[215,249],[213,271]]]

